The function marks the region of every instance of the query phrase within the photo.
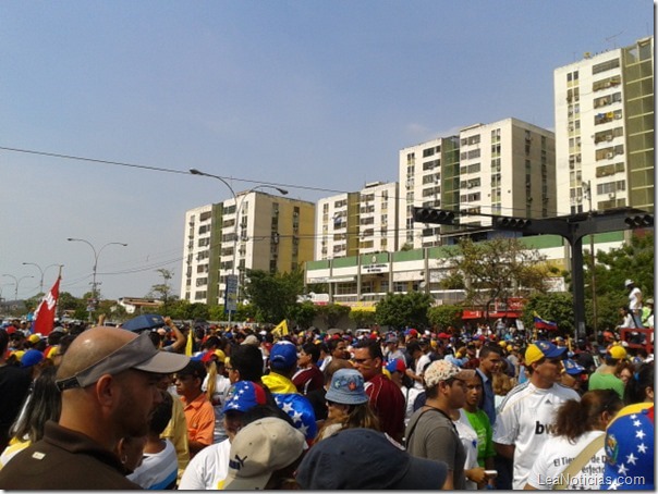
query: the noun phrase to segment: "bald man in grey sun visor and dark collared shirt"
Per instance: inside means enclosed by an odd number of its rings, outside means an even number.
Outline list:
[[[161,374],[187,363],[183,355],[159,351],[146,333],[98,326],[77,336],[62,359],[59,423],[46,423],[44,439],[0,470],[0,489],[139,489],[129,481],[117,444],[148,432],[162,400]]]

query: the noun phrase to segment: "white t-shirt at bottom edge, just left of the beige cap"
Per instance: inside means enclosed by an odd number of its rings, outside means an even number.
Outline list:
[[[203,448],[190,460],[179,484],[179,491],[221,490],[229,474],[230,456],[229,440]]]

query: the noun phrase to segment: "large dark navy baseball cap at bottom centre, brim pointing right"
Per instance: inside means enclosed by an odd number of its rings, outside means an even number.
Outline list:
[[[382,432],[344,429],[315,444],[297,468],[304,490],[438,490],[442,461],[411,456]]]

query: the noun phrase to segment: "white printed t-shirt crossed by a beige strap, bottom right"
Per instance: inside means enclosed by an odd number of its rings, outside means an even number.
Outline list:
[[[572,444],[566,437],[551,437],[541,447],[535,465],[531,470],[527,483],[538,490],[552,489],[562,479],[560,474],[574,460],[576,456],[596,437],[605,431],[588,431],[576,439]],[[606,468],[606,450],[601,447],[585,464],[583,469],[569,481],[565,489],[571,491],[595,491],[599,489]]]

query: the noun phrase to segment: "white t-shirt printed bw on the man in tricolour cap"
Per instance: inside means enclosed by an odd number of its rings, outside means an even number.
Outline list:
[[[580,402],[581,397],[561,384],[540,390],[526,381],[510,391],[500,405],[493,442],[515,446],[512,489],[521,490],[526,484],[539,449],[550,437],[556,412],[568,399]]]

